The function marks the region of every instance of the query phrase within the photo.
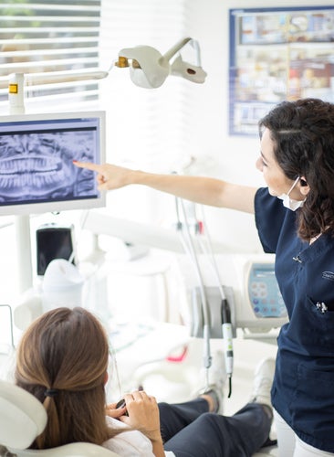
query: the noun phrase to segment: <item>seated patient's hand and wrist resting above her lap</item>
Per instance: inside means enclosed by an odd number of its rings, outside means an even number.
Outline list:
[[[132,429],[140,430],[151,441],[161,441],[159,408],[157,400],[143,390],[124,395],[129,416],[120,420]]]

